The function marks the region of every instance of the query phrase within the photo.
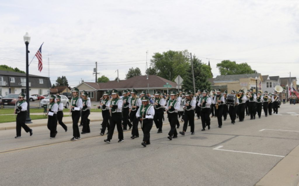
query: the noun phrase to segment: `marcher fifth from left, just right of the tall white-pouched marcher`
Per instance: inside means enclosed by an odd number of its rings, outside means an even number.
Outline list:
[[[90,114],[90,108],[91,108],[91,103],[90,100],[88,99],[88,93],[83,92],[82,94],[82,114],[81,114],[81,121],[83,122],[83,128],[81,134],[86,134],[90,133],[90,127],[89,127],[89,119],[88,116]]]

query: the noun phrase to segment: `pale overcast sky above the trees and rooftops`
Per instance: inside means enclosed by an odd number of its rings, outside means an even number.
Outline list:
[[[155,52],[187,49],[210,64],[247,62],[262,75],[299,78],[299,1],[16,1],[0,2],[0,64],[25,68],[23,35],[31,36],[29,73],[52,84],[65,75],[71,87],[124,79],[131,67],[144,75]],[[148,55],[146,55],[148,51]],[[49,56],[48,56],[49,55]],[[120,63],[122,62],[122,63]]]

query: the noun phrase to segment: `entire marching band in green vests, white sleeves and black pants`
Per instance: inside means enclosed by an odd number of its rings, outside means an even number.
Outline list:
[[[216,94],[215,94],[216,92]],[[187,127],[190,126],[191,135],[195,134],[194,118],[201,119],[202,131],[208,127],[210,130],[210,118],[217,117],[218,127],[222,128],[222,116],[224,121],[229,115],[231,124],[236,123],[236,118],[239,118],[239,122],[244,121],[245,109],[248,106],[246,115],[250,116],[250,120],[254,120],[256,114],[261,118],[262,108],[265,113],[265,117],[273,113],[278,113],[279,105],[279,90],[275,90],[274,94],[268,94],[267,91],[262,94],[258,91],[257,94],[253,92],[253,89],[244,90],[240,89],[238,92],[232,90],[230,94],[225,90],[221,93],[220,89],[213,89],[210,92],[207,89],[198,89],[197,94],[193,96],[192,91],[177,92],[171,91],[170,94],[163,94],[159,91],[155,91],[155,97],[153,103],[150,103],[150,97],[146,96],[146,92],[142,91],[137,96],[135,89],[123,90],[123,97],[119,97],[119,91],[113,89],[110,91],[104,91],[103,97],[100,100],[100,104],[97,108],[101,109],[103,116],[102,128],[100,135],[105,135],[107,128],[107,139],[104,142],[110,143],[112,139],[115,125],[118,130],[118,142],[123,142],[123,131],[132,128],[132,139],[139,137],[138,123],[141,123],[141,129],[144,137],[141,145],[146,147],[150,144],[150,131],[152,129],[153,122],[158,129],[157,133],[162,133],[162,125],[164,121],[164,114],[167,113],[168,121],[170,123],[170,131],[168,132],[168,139],[178,137],[176,128],[179,128],[178,118],[181,116],[181,121],[184,122],[181,135],[185,135]],[[88,93],[83,91],[82,99],[79,97],[79,89],[74,88],[72,90],[73,98],[71,100],[71,117],[73,120],[73,138],[72,141],[80,139],[80,132],[78,128],[78,122],[81,118],[83,123],[83,129],[81,134],[89,133],[89,119],[91,103],[88,99]],[[210,94],[210,95],[209,95]],[[110,97],[111,96],[111,97]],[[19,94],[19,100],[15,106],[16,118],[16,132],[15,138],[21,137],[21,127],[26,132],[32,135],[32,129],[25,125],[27,103],[24,100],[25,95]],[[48,129],[50,130],[50,138],[55,138],[57,134],[57,121],[67,131],[66,125],[62,122],[63,117],[63,104],[60,102],[60,96],[56,97],[51,95],[50,103],[47,106],[48,115]],[[210,117],[210,115],[212,115]],[[130,123],[132,122],[132,124]],[[188,125],[189,124],[189,125]],[[177,126],[177,127],[176,127]]]

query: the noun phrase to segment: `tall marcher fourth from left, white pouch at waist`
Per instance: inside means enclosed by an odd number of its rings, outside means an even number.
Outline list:
[[[71,114],[72,114],[72,120],[73,120],[73,138],[72,141],[75,141],[77,139],[80,139],[80,131],[78,127],[78,122],[80,119],[80,111],[83,107],[82,105],[82,99],[79,97],[79,89],[76,87],[72,90],[73,98],[71,100]]]

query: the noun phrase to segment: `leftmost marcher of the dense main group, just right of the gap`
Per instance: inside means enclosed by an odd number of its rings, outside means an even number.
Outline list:
[[[102,117],[103,117],[103,123],[102,123],[102,129],[100,135],[103,136],[105,134],[105,130],[107,128],[107,131],[109,131],[109,117],[110,117],[110,100],[109,100],[110,93],[108,91],[105,91],[103,94],[103,99],[101,100],[101,103],[97,108],[102,109]]]

